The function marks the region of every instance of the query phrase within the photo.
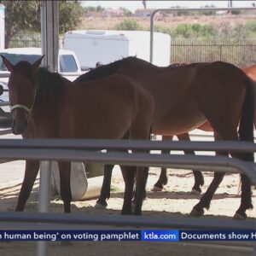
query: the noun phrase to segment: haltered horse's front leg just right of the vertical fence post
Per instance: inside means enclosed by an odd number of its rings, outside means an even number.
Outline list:
[[[70,188],[70,162],[58,162],[60,181],[61,181],[61,199],[64,203],[64,212],[71,212],[71,188]]]

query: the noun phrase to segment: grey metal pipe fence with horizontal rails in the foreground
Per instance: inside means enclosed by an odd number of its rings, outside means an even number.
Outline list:
[[[231,159],[227,156],[193,156],[193,155],[170,155],[170,154],[149,154],[125,152],[102,152],[102,148],[127,151],[129,149],[187,149],[195,144],[197,150],[232,150],[243,152],[253,152],[256,146],[253,143],[228,142],[226,145],[222,142],[210,143],[168,143],[168,142],[148,142],[148,141],[123,141],[123,140],[0,140],[0,158],[6,160],[78,160],[87,162],[104,162],[129,166],[172,166],[178,168],[203,167],[206,170],[216,169],[221,172],[243,172],[252,177],[253,183],[256,183],[256,172],[253,163],[243,162],[237,159]],[[212,147],[211,147],[212,145]],[[214,148],[214,149],[212,149]],[[41,175],[49,171],[49,165],[41,168]],[[39,207],[45,209],[48,204],[49,182],[45,179],[40,187]],[[44,189],[44,193],[43,193]],[[43,194],[43,195],[41,195]],[[47,194],[47,195],[46,195]],[[95,225],[118,225],[118,226],[136,226],[150,228],[177,228],[177,229],[255,229],[255,221],[248,220],[244,222],[234,220],[216,219],[212,221],[207,218],[141,218],[135,216],[90,216],[77,214],[51,214],[51,213],[31,213],[31,212],[0,212],[0,222],[8,224],[9,222],[33,223],[38,230],[43,228],[44,224],[95,224]],[[39,224],[40,223],[40,224]],[[22,225],[20,226],[22,227]],[[41,245],[41,244],[40,244]],[[38,250],[38,255],[46,252],[46,243],[44,250]],[[239,244],[237,244],[239,246]],[[39,253],[40,252],[40,253]]]

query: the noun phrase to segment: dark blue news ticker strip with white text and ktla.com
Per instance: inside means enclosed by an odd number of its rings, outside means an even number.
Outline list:
[[[0,241],[256,241],[256,230],[0,230]]]

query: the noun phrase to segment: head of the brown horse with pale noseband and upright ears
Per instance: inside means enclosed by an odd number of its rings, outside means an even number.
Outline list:
[[[35,73],[44,55],[33,64],[20,61],[16,65],[10,63],[3,55],[1,56],[3,64],[10,72],[8,87],[10,110],[13,118],[12,130],[14,134],[22,134],[26,131],[28,118],[35,102],[37,92]]]

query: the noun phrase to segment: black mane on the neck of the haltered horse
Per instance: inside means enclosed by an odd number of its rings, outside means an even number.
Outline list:
[[[62,78],[59,73],[52,73],[46,67],[39,67],[35,78],[38,85],[37,102],[48,102],[50,97],[56,100],[58,96],[61,96],[66,79]]]

